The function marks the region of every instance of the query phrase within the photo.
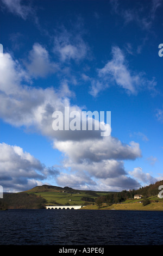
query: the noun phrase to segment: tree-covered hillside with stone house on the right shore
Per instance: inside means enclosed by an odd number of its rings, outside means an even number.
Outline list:
[[[85,209],[163,211],[163,198],[158,197],[161,191],[163,196],[163,190],[159,190],[161,185],[163,185],[163,180],[141,187],[139,190],[123,190],[117,193],[109,193],[106,196],[98,197],[95,201],[96,205],[87,206]],[[139,196],[137,199],[134,197],[136,195]]]

